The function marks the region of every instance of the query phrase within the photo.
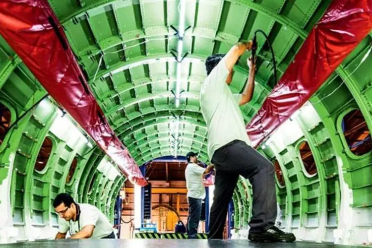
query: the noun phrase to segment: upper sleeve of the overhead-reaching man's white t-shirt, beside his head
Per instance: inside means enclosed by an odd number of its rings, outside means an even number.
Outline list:
[[[223,90],[227,86],[226,78],[230,71],[226,66],[225,57],[213,68],[207,77],[208,83],[206,90],[211,94],[222,94]]]

